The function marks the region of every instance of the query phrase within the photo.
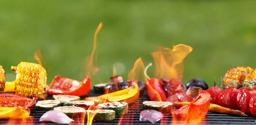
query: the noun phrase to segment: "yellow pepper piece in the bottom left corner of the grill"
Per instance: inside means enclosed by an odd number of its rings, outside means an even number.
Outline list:
[[[29,118],[30,109],[17,107],[0,107],[0,119],[27,119]]]

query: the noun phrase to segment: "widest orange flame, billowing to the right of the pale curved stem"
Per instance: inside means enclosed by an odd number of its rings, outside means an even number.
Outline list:
[[[183,78],[183,60],[192,52],[193,48],[185,45],[174,45],[172,49],[160,47],[151,53],[155,62],[154,76],[156,78]]]

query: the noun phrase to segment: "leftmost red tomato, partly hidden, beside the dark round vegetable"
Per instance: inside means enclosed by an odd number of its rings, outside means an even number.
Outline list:
[[[218,105],[218,94],[222,91],[222,89],[218,86],[210,87],[209,89],[206,90],[211,94],[211,103],[212,104],[217,104]]]

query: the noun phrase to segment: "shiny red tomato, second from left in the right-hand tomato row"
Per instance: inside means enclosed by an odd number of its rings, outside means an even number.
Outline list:
[[[236,105],[236,96],[240,92],[240,89],[230,88],[223,89],[218,94],[218,103],[220,106],[232,109],[239,109]]]

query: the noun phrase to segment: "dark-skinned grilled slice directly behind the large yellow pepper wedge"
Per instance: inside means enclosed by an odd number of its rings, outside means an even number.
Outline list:
[[[127,88],[129,88],[129,83],[127,81],[121,83],[110,83],[104,87],[104,92],[105,94],[108,94],[111,92],[116,92]]]

